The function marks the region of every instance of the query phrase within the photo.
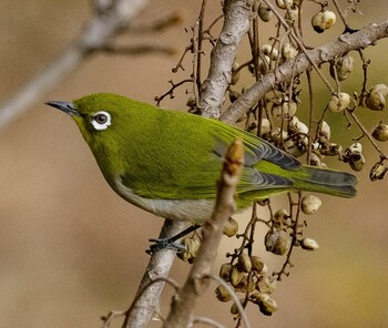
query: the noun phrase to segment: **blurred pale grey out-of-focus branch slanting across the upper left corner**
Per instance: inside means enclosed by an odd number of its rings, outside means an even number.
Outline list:
[[[104,14],[93,17],[78,40],[59,59],[0,107],[0,129],[23,113],[42,94],[54,89],[78,68],[91,50],[112,41],[112,38],[126,28],[147,2],[149,0],[118,0]]]

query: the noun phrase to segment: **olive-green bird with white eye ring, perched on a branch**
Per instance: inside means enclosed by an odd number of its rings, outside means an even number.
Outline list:
[[[217,120],[110,93],[47,104],[75,121],[110,186],[157,216],[203,224],[215,204],[223,155],[236,137],[245,147],[238,211],[285,192],[356,195],[354,175],[302,165],[268,142]]]

